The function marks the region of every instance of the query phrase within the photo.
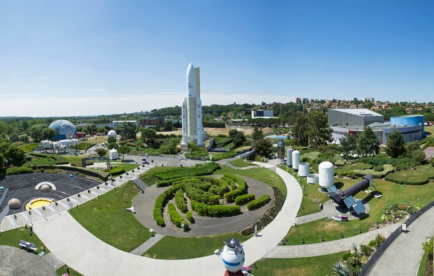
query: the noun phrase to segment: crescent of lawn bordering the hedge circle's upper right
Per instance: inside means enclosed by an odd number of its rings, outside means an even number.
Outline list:
[[[221,167],[219,170],[216,170],[214,174],[235,174],[235,175],[243,175],[247,176],[253,179],[256,179],[258,181],[261,181],[265,184],[267,184],[270,187],[277,187],[279,188],[283,195],[286,197],[286,185],[285,182],[283,182],[282,178],[280,178],[277,173],[266,169],[266,168],[251,168],[247,170],[235,170],[228,167]]]

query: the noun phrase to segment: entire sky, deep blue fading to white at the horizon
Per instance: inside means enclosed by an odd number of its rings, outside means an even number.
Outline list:
[[[434,1],[0,1],[0,116],[434,101]],[[45,108],[49,106],[49,108]]]

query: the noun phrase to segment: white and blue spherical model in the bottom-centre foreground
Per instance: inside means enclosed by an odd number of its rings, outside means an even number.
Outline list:
[[[244,250],[236,239],[229,239],[221,253],[223,265],[229,272],[238,272],[244,265]]]

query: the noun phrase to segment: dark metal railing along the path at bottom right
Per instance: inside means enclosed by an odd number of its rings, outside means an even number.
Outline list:
[[[430,210],[434,206],[434,201],[431,201],[427,205],[425,205],[421,210],[416,212],[414,215],[410,216],[405,222],[406,227],[414,222],[417,218],[423,215],[426,211]],[[402,227],[396,229],[385,241],[384,243],[372,254],[371,258],[369,258],[366,265],[363,267],[362,271],[359,273],[359,276],[367,276],[371,273],[372,269],[377,264],[378,260],[380,260],[383,253],[387,250],[387,248],[393,243],[393,241],[403,232]]]

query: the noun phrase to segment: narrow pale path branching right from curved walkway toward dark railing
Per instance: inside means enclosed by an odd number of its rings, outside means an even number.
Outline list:
[[[385,238],[387,238],[398,227],[401,227],[400,223],[392,224],[357,236],[336,241],[309,245],[276,246],[269,254],[267,254],[266,258],[314,257],[342,252],[350,250],[353,244],[359,245],[360,243],[369,243],[369,241],[375,239],[377,234],[382,234]]]

